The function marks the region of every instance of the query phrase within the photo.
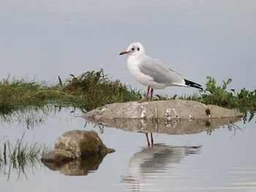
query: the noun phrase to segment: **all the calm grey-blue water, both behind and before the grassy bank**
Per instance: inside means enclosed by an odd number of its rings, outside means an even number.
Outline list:
[[[255,89],[256,1],[0,1],[0,77],[57,82],[103,68],[113,79],[144,89],[119,56],[140,41],[189,80],[203,84],[233,79],[228,88]],[[158,93],[189,94],[193,88]],[[72,129],[95,130],[80,112],[35,112],[1,119],[0,138],[52,147]],[[26,119],[30,118],[29,127]],[[33,121],[34,118],[37,121]],[[85,126],[86,125],[86,126]],[[240,127],[236,128],[236,126]],[[67,176],[42,164],[26,174],[0,169],[1,191],[256,191],[255,118],[209,134],[144,134],[104,128],[105,145],[116,149],[96,171]],[[189,147],[194,147],[189,150]],[[8,170],[8,169],[7,169]],[[6,170],[5,170],[6,171]]]

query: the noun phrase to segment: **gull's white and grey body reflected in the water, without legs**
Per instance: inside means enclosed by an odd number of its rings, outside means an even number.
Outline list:
[[[127,183],[132,191],[143,191],[147,185],[150,185],[153,190],[153,181],[167,177],[170,166],[178,164],[186,155],[199,152],[200,146],[173,147],[157,144],[151,148],[143,147],[129,160],[128,173],[122,178],[122,183]],[[154,178],[153,181],[152,178]]]

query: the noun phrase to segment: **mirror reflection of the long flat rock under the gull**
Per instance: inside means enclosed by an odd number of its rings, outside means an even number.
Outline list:
[[[94,122],[99,127],[107,126],[120,128],[124,131],[148,132],[161,134],[198,134],[202,131],[211,131],[225,125],[232,125],[241,118],[214,118],[198,120],[181,119],[106,119],[95,120],[86,118]]]

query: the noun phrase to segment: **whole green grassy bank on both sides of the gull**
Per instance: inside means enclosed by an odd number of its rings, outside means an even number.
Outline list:
[[[206,89],[193,96],[155,96],[160,99],[188,99],[205,104],[217,104],[222,107],[235,108],[241,112],[256,111],[256,89],[248,91],[228,90],[231,80],[217,85],[208,77]],[[44,107],[47,104],[61,107],[78,107],[91,110],[104,104],[119,101],[138,101],[142,97],[119,80],[110,80],[102,70],[86,72],[79,77],[70,75],[68,80],[61,80],[54,85],[45,82],[26,82],[25,80],[2,80],[0,82],[0,112],[8,114],[26,107]]]

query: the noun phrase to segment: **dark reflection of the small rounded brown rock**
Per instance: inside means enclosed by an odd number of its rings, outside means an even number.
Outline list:
[[[80,158],[67,163],[43,162],[45,166],[53,171],[59,171],[66,175],[87,175],[98,169],[105,155],[94,155],[81,160]]]

